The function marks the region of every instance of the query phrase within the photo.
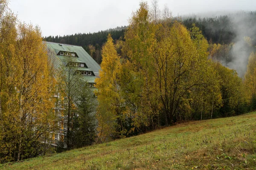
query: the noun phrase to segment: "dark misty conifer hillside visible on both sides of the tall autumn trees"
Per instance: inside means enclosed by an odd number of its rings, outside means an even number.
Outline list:
[[[192,28],[192,24],[195,23],[208,40],[209,51],[213,50],[211,49],[212,45],[217,45],[218,52],[210,57],[220,61],[224,66],[235,69],[239,77],[243,77],[246,72],[248,57],[256,45],[256,40],[253,38],[256,37],[256,12],[219,13],[209,12],[172,18],[173,21],[182,22],[188,29]],[[100,64],[102,45],[106,42],[108,34],[110,33],[115,41],[123,40],[126,28],[127,26],[118,26],[96,33],[57,35],[44,39],[50,42],[81,45]],[[246,37],[250,37],[250,42]]]

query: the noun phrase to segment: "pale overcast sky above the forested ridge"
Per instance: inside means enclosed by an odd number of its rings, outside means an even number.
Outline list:
[[[151,4],[151,0],[147,0]],[[127,26],[139,0],[10,0],[9,7],[26,23],[41,27],[43,36],[89,33]],[[174,16],[216,11],[253,11],[256,0],[159,0]]]

